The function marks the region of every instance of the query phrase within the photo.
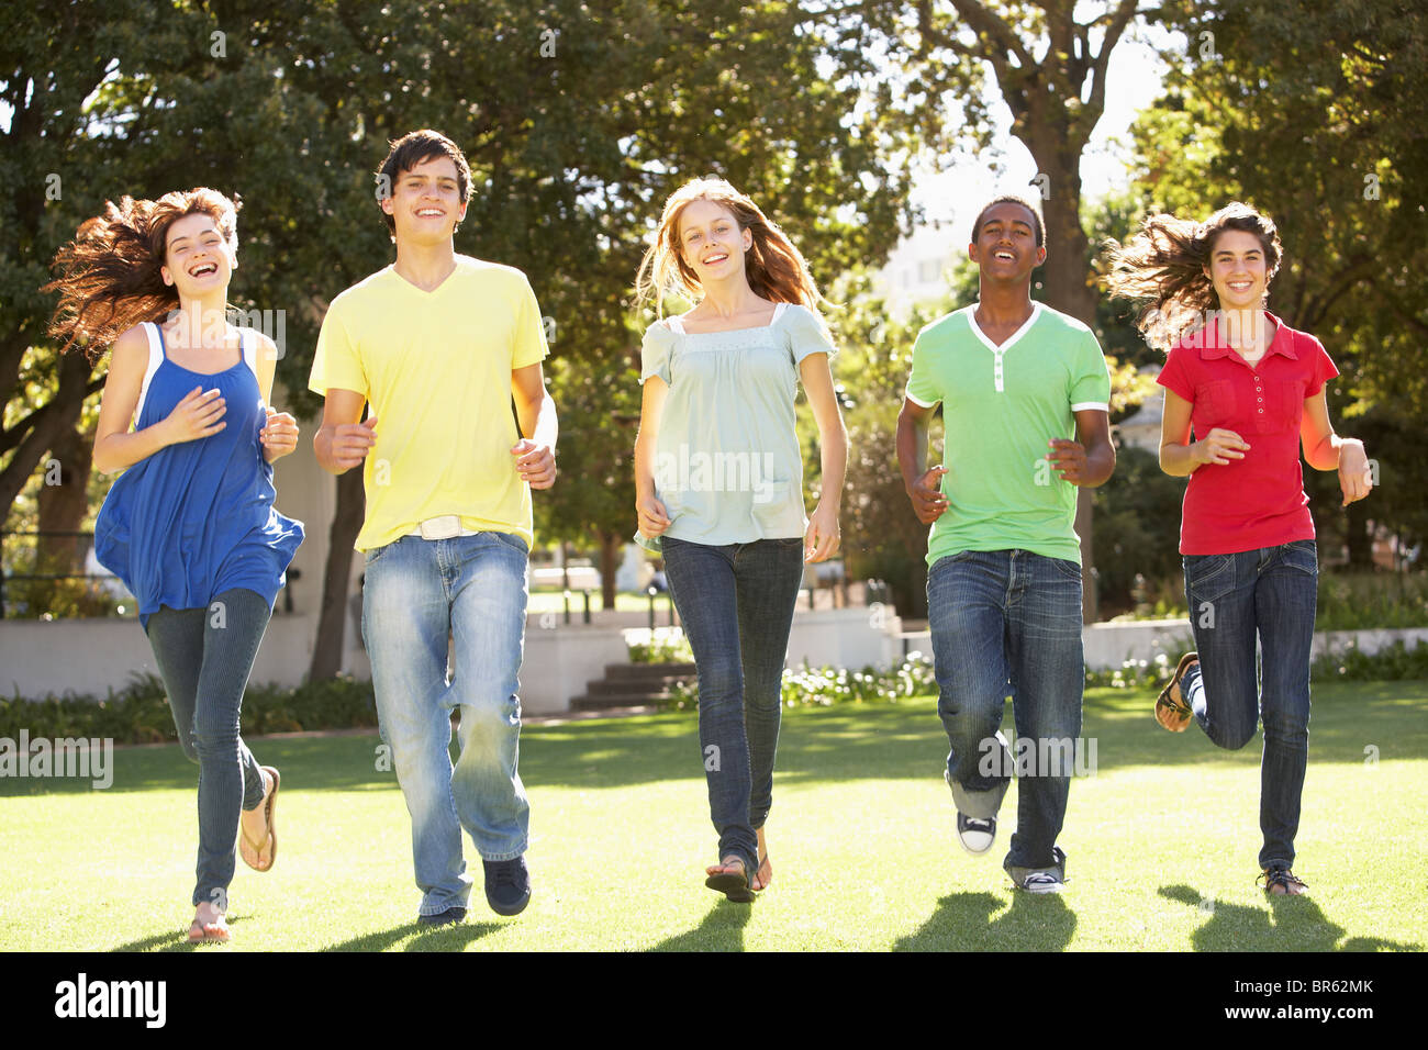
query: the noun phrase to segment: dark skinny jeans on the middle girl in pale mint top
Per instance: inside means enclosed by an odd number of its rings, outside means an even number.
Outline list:
[[[774,799],[784,659],[803,537],[710,547],[664,537],[664,571],[700,679],[700,750],[720,860],[758,867]]]

